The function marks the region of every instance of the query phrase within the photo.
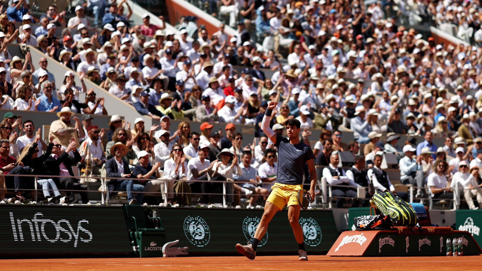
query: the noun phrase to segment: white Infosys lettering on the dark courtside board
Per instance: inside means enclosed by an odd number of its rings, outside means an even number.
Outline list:
[[[48,241],[52,243],[73,242],[74,247],[77,247],[79,242],[88,243],[93,240],[92,233],[82,227],[82,225],[89,224],[89,220],[81,219],[77,222],[77,225],[72,225],[67,219],[54,221],[43,218],[42,213],[35,213],[32,219],[15,218],[13,212],[9,212],[9,216],[14,241],[25,241],[31,238],[32,241]],[[47,235],[45,228],[52,228],[52,226],[55,230],[49,230],[49,235]]]

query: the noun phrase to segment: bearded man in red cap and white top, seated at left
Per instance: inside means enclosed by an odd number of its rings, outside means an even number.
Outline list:
[[[106,163],[104,145],[100,138],[104,137],[105,131],[96,125],[87,128],[89,138],[85,139],[80,145],[80,157],[85,166],[84,176],[100,176],[102,164]]]

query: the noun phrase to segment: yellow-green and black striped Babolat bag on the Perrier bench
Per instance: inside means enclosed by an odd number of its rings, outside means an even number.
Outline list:
[[[375,193],[370,203],[383,215],[390,217],[393,226],[415,226],[418,222],[412,206],[392,192]]]

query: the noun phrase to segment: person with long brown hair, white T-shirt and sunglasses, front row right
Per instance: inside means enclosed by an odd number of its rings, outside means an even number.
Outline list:
[[[431,190],[432,199],[446,199],[450,201],[449,209],[454,206],[454,193],[447,183],[445,176],[448,164],[445,160],[436,160],[433,163],[433,172],[427,177],[427,185]]]

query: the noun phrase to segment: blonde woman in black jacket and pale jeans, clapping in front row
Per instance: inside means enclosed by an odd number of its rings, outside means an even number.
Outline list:
[[[24,163],[24,166],[28,166],[35,172],[35,175],[49,175],[47,168],[45,167],[45,160],[50,157],[52,148],[54,147],[54,136],[49,137],[49,146],[45,150],[45,153],[39,156],[38,143],[40,142],[40,131],[37,132],[34,143],[27,144],[20,155],[18,161]],[[48,203],[65,203],[66,197],[62,198],[55,182],[51,178],[38,179],[37,184],[42,188],[43,196],[47,199]],[[54,197],[51,196],[50,191],[53,191]]]

